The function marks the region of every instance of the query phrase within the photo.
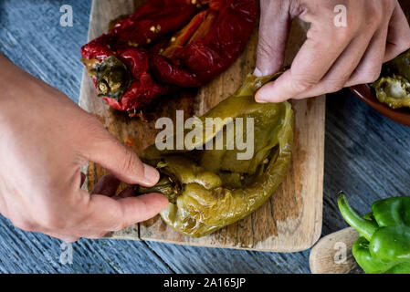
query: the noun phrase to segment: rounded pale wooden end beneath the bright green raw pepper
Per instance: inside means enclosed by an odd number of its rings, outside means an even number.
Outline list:
[[[352,255],[352,246],[359,238],[352,227],[326,235],[310,251],[312,274],[358,274],[363,270]]]

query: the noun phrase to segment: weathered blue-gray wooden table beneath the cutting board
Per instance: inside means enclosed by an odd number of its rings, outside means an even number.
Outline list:
[[[73,8],[72,27],[60,26],[62,5]],[[0,52],[77,102],[90,7],[90,0],[2,0]],[[347,226],[336,205],[340,190],[363,213],[378,198],[409,194],[409,162],[410,128],[385,119],[347,89],[329,95],[322,235]],[[309,250],[280,254],[80,239],[72,264],[63,265],[60,245],[0,216],[0,273],[310,273]]]

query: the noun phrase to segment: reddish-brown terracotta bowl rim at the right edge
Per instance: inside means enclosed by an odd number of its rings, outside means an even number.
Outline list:
[[[400,109],[393,110],[384,103],[380,102],[368,84],[356,85],[350,88],[354,95],[362,99],[365,103],[371,106],[374,110],[380,112],[384,117],[394,120],[402,125],[410,127],[410,110]]]

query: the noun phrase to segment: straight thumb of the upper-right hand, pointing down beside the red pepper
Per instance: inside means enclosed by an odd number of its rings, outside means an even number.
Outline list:
[[[290,27],[289,3],[260,0],[257,77],[273,74],[283,66]]]

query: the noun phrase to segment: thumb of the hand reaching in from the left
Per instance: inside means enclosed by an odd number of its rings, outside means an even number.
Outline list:
[[[160,174],[155,168],[142,163],[134,151],[121,144],[102,125],[95,131],[85,145],[86,159],[98,163],[124,183],[143,186],[158,183]]]

